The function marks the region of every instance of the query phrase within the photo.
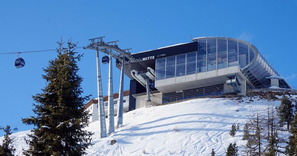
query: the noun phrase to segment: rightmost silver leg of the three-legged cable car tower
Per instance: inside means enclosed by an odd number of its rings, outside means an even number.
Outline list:
[[[124,101],[124,65],[125,65],[125,56],[122,60],[122,69],[121,69],[121,81],[120,81],[120,90],[119,90],[119,104],[118,104],[118,122],[117,126],[123,125],[123,101]]]

